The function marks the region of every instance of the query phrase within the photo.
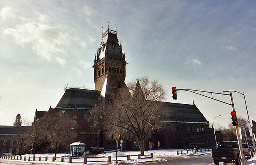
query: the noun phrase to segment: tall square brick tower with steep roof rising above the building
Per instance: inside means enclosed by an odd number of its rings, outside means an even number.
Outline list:
[[[126,60],[121,44],[118,42],[116,30],[102,28],[102,41],[94,58],[94,83],[96,90],[105,89],[106,79],[112,91],[127,87],[124,83],[126,77]],[[105,83],[106,84],[106,83]]]

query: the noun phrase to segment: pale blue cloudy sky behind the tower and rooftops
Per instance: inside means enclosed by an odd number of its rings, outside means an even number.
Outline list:
[[[94,89],[92,66],[108,25],[126,55],[126,83],[158,80],[166,101],[194,102],[210,125],[218,115],[214,124],[231,123],[232,106],[188,91],[173,100],[171,87],[245,93],[256,121],[256,1],[0,0],[0,125],[13,125],[18,113],[33,121],[65,85]],[[247,119],[240,93],[232,92],[234,107]],[[231,103],[229,95],[213,98]]]

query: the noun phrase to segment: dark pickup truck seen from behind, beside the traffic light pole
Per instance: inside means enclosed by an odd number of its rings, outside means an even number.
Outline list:
[[[214,165],[219,162],[240,164],[239,147],[236,141],[222,141],[217,145],[217,149],[212,149],[212,159]]]

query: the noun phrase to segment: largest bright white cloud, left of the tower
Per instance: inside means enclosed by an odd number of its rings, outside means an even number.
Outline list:
[[[50,60],[51,55],[56,52],[66,53],[64,46],[70,44],[68,34],[54,29],[54,27],[32,21],[16,25],[15,28],[5,29],[4,34],[11,35],[14,42],[22,47],[31,46],[38,56]]]

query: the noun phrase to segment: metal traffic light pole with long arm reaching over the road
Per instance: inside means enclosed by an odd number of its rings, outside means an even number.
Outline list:
[[[176,88],[176,87],[175,87]],[[216,93],[216,92],[210,92],[210,91],[200,91],[200,90],[194,90],[194,89],[176,89],[176,91],[189,91],[189,92],[192,92],[192,93],[196,93],[198,95],[202,95],[204,97],[207,97],[207,98],[210,98],[210,99],[214,99],[216,101],[219,101],[219,102],[222,102],[222,103],[225,103],[225,104],[228,104],[228,105],[232,105],[232,109],[233,111],[235,111],[235,106],[234,106],[234,101],[233,101],[233,96],[232,96],[232,93],[230,92],[230,94],[224,94],[224,93]],[[201,94],[201,93],[198,93],[198,92],[204,92],[204,93],[211,93],[211,97],[207,96],[207,95],[204,95],[204,94]],[[177,94],[177,93],[176,93]],[[230,95],[230,98],[231,98],[231,104],[230,103],[227,103],[227,102],[224,102],[224,101],[221,101],[219,99],[215,99],[213,98],[213,94],[218,94],[218,95]],[[177,97],[176,97],[177,99]],[[242,140],[240,138],[240,134],[239,134],[239,130],[238,130],[238,126],[235,126],[236,127],[236,137],[237,137],[237,141],[238,141],[238,147],[239,147],[239,152],[240,152],[240,156],[241,156],[241,165],[247,165],[246,163],[246,160],[245,160],[245,157],[244,157],[244,151],[243,151],[243,148],[242,148]]]

